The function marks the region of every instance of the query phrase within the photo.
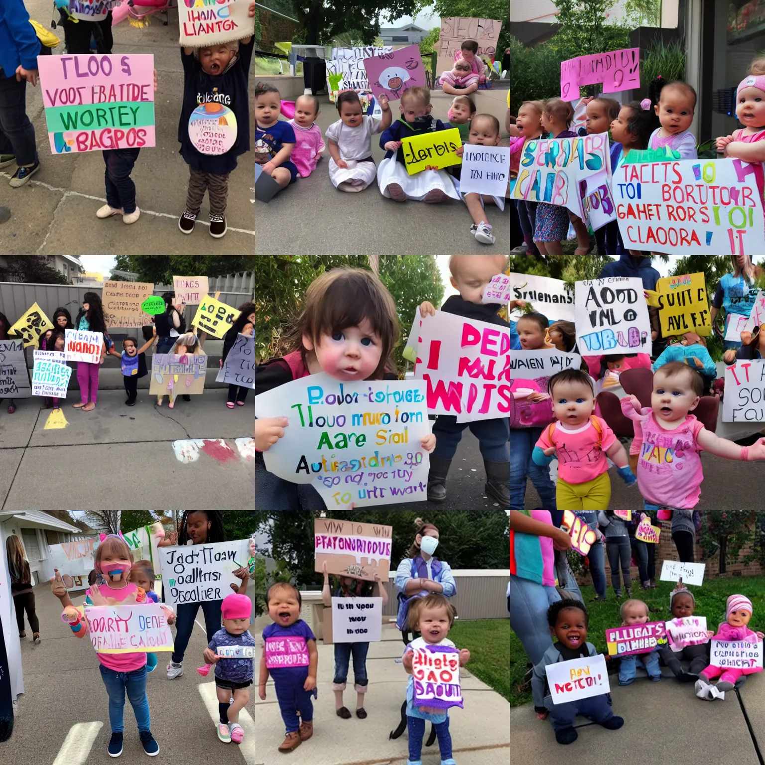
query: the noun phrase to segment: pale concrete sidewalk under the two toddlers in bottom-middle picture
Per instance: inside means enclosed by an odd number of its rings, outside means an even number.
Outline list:
[[[262,632],[256,635],[262,652]],[[364,708],[369,715],[359,720],[337,717],[334,711],[332,679],[334,675],[334,646],[317,641],[319,650],[318,700],[314,702],[314,736],[299,747],[298,760],[310,765],[405,765],[407,734],[395,741],[389,733],[400,720],[408,675],[401,664],[396,664],[403,652],[401,633],[395,625],[383,625],[382,642],[371,643],[366,657],[369,692]],[[260,653],[256,656],[258,672]],[[470,665],[461,670],[464,709],[449,712],[449,729],[454,746],[454,759],[459,765],[488,765],[507,762],[509,758],[509,705],[488,685],[470,674]],[[256,698],[258,724],[258,757],[262,765],[284,763],[285,755],[278,751],[284,741],[284,723],[279,714],[274,684],[269,680],[267,698]],[[355,710],[356,692],[353,690],[353,664],[344,700],[347,708]],[[427,741],[430,726],[425,729]],[[438,742],[432,747],[423,743],[423,765],[438,765]],[[294,757],[293,757],[294,758]]]

